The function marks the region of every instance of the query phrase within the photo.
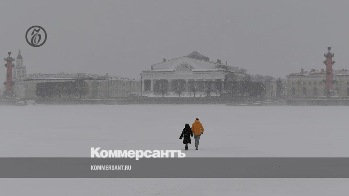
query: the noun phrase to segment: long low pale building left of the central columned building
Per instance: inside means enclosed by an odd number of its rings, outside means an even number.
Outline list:
[[[127,97],[140,92],[140,82],[135,79],[96,75],[96,74],[30,74],[27,77],[16,78],[14,80],[14,93],[18,98],[37,99],[36,84],[42,82],[66,82],[84,80],[89,85],[89,93],[82,98],[98,99],[111,97]],[[58,97],[58,96],[56,96]],[[68,95],[61,95],[67,98]],[[78,97],[78,96],[74,96]]]

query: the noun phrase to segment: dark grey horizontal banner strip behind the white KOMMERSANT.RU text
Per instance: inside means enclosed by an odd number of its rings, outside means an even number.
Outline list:
[[[349,158],[0,158],[0,178],[349,178]]]

